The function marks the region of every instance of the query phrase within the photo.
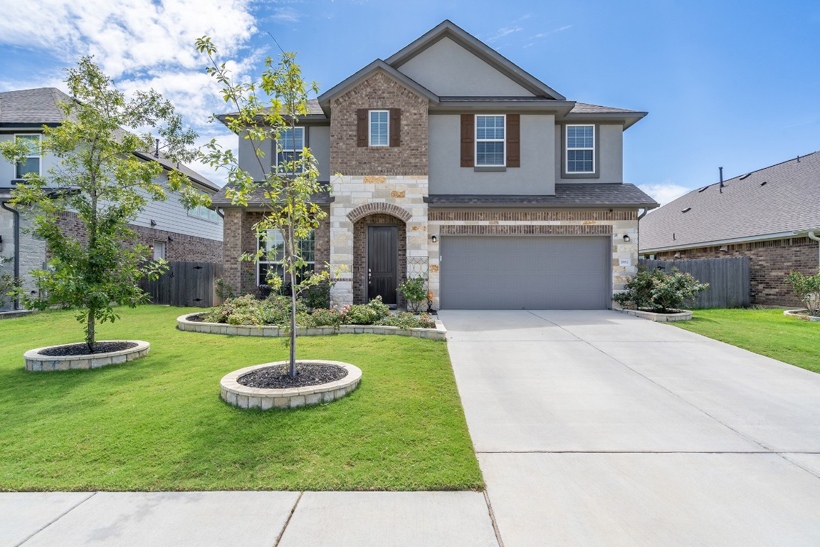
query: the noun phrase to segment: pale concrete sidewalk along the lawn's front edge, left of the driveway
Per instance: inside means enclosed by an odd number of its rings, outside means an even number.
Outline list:
[[[0,545],[497,547],[477,492],[0,494]]]

